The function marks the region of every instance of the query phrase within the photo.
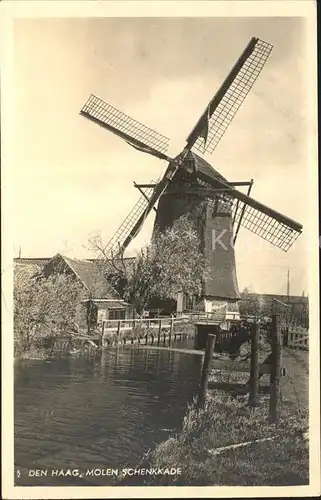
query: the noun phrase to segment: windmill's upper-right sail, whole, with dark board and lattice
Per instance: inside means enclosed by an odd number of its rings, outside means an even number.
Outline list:
[[[187,147],[213,153],[265,65],[273,46],[252,38],[194,129]]]

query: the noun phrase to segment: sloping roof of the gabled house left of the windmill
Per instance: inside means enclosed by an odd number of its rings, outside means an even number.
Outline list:
[[[103,276],[100,267],[92,261],[71,259],[58,253],[45,264],[43,272],[50,275],[64,270],[66,266],[81,281],[92,298],[121,300],[120,295]]]

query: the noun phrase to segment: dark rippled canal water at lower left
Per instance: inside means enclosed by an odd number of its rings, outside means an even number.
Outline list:
[[[173,347],[190,349],[192,342]],[[179,431],[201,362],[190,353],[133,346],[18,362],[15,484],[112,484],[113,476],[100,470],[135,467],[144,452]],[[59,475],[61,469],[79,475]],[[86,475],[88,469],[98,475]]]

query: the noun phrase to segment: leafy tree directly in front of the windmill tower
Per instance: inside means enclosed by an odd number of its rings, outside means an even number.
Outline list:
[[[108,280],[139,315],[152,300],[176,300],[180,292],[202,294],[208,270],[198,232],[188,216],[164,231],[156,230],[151,243],[128,263],[123,256],[108,258],[100,237],[93,238],[90,246],[99,251]]]

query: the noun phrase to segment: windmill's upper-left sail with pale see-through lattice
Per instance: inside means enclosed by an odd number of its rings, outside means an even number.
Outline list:
[[[125,115],[99,97],[91,94],[80,114],[118,135],[136,149],[162,160],[170,160],[165,154],[169,145],[167,137]]]

